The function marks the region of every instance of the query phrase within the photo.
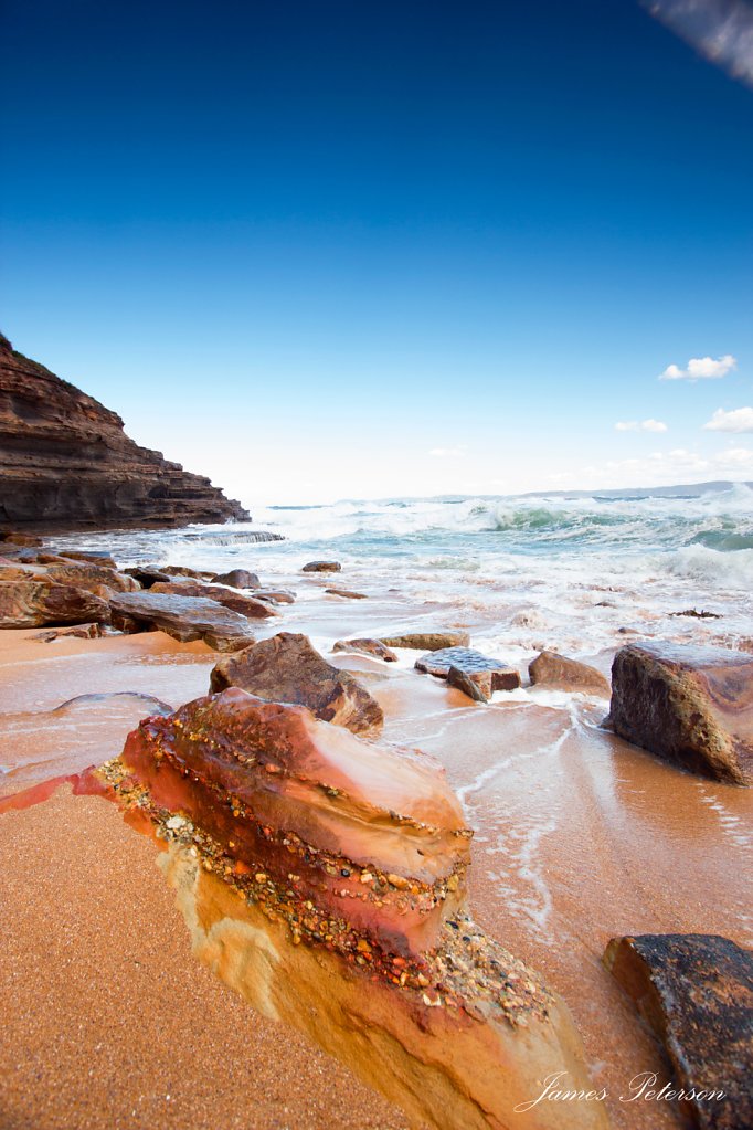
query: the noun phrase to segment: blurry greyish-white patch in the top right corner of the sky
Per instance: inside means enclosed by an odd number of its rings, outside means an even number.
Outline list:
[[[734,78],[753,86],[753,9],[746,0],[642,0],[673,32]]]

